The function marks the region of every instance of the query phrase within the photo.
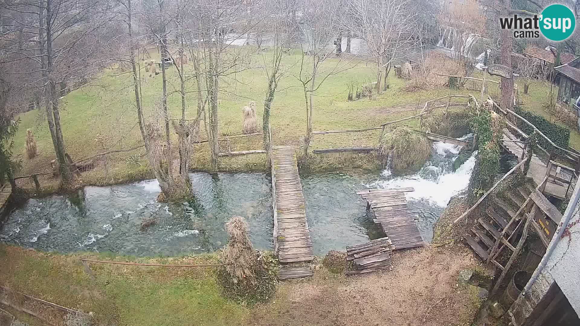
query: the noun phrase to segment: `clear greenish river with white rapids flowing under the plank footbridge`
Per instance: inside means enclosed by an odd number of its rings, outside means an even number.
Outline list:
[[[409,208],[419,215],[425,241],[449,199],[467,187],[474,157],[452,171],[459,148],[433,144],[432,157],[414,175],[337,172],[301,176],[315,255],[382,236],[355,194],[367,188],[415,187]],[[240,215],[249,222],[256,249],[273,248],[269,173],[191,173],[194,200],[157,202],[157,180],[116,186],[87,186],[77,193],[32,198],[14,209],[0,241],[43,251],[113,252],[175,256],[211,252],[227,241],[224,222]],[[156,223],[141,229],[143,220]]]

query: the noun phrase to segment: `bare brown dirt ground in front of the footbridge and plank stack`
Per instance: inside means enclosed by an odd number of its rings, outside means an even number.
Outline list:
[[[276,302],[255,309],[252,325],[470,325],[473,292],[459,286],[462,269],[479,266],[467,249],[423,248],[393,255],[392,271],[283,282]]]

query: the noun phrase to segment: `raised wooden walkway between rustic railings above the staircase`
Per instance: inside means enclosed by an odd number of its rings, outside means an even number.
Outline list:
[[[503,129],[503,139],[510,139],[510,140],[519,140],[516,136],[514,136],[511,132],[507,129]],[[517,160],[521,162],[521,153],[524,151],[524,144],[517,143],[517,142],[502,142],[503,147],[506,148],[507,151],[517,156]],[[540,184],[543,181],[543,178],[546,176],[546,171],[548,170],[546,163],[542,162],[542,160],[536,155],[532,154],[532,160],[530,162],[530,169],[528,170],[528,176],[534,179],[536,184]],[[555,166],[554,168],[555,169]],[[555,174],[553,172],[553,174]],[[563,199],[565,198],[566,190],[568,189],[568,185],[557,184],[550,180],[550,182],[546,183],[546,189],[543,191],[545,194],[552,195],[553,197]]]

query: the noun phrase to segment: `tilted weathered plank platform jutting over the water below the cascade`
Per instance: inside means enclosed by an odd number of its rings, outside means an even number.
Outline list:
[[[425,245],[415,224],[416,215],[407,208],[405,192],[412,187],[400,189],[367,189],[357,191],[367,201],[367,211],[375,213],[373,221],[379,223],[394,245],[394,250],[422,247]]]

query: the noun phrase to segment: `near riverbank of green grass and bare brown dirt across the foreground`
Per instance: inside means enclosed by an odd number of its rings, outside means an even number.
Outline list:
[[[466,248],[423,248],[393,255],[393,270],[343,277],[314,263],[314,276],[284,281],[276,298],[253,307],[223,298],[212,267],[90,265],[79,258],[139,263],[215,263],[218,253],[176,258],[113,257],[107,254],[54,255],[0,245],[5,287],[85,312],[96,325],[470,325],[478,299],[458,285],[460,270],[480,267]],[[321,259],[317,259],[320,261]],[[31,325],[38,321],[11,309]],[[50,313],[45,310],[43,313]]]

